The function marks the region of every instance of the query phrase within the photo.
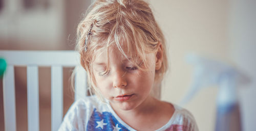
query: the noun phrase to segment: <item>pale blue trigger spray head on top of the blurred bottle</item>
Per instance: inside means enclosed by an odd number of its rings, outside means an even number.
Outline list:
[[[236,87],[250,82],[247,75],[220,61],[200,57],[194,54],[187,55],[186,61],[194,65],[193,83],[188,89],[185,97],[182,99],[180,103],[181,105],[187,103],[202,88],[214,85],[220,87],[219,96],[217,97],[219,102],[221,101],[219,99],[224,98],[221,96],[236,97]]]

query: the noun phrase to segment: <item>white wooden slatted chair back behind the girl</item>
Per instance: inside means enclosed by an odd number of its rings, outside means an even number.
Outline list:
[[[62,67],[76,67],[75,100],[86,96],[86,72],[76,51],[0,50],[7,61],[3,77],[5,131],[16,131],[14,66],[27,67],[28,131],[39,131],[38,66],[51,67],[51,130],[56,131],[63,116]]]

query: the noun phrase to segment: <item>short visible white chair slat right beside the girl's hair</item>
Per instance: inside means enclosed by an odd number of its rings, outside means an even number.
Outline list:
[[[82,66],[75,68],[75,100],[87,95],[87,75]]]

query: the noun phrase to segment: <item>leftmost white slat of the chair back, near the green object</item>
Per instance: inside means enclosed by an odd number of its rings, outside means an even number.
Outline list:
[[[14,67],[8,66],[3,78],[5,130],[16,131]]]

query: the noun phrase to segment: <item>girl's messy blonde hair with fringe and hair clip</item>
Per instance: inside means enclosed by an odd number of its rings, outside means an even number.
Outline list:
[[[76,49],[81,65],[88,73],[89,89],[99,94],[92,72],[92,62],[98,50],[117,47],[126,58],[137,57],[146,67],[146,54],[156,52],[160,43],[163,61],[161,68],[156,70],[155,80],[158,81],[162,80],[168,64],[165,39],[149,4],[142,0],[96,0],[77,28]]]

